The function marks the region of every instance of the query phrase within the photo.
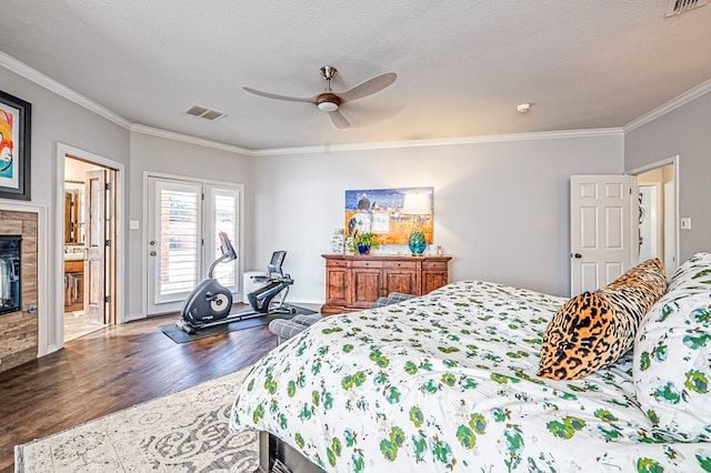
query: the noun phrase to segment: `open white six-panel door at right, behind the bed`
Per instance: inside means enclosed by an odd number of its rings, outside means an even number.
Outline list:
[[[570,177],[571,295],[614,281],[638,259],[637,179]]]

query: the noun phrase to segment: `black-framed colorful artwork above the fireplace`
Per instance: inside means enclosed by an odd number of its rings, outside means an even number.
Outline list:
[[[0,91],[0,198],[30,200],[32,104]]]

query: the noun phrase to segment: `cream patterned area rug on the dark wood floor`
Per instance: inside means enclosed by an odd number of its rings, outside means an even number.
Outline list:
[[[249,369],[14,447],[16,472],[253,472],[257,433],[230,433]]]

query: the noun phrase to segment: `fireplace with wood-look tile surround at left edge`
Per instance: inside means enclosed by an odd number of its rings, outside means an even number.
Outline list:
[[[0,210],[0,372],[37,358],[37,213]]]

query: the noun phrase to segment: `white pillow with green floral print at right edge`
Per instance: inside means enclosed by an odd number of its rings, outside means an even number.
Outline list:
[[[668,441],[711,440],[711,253],[674,273],[634,341],[640,407]]]

